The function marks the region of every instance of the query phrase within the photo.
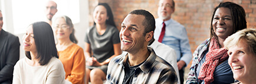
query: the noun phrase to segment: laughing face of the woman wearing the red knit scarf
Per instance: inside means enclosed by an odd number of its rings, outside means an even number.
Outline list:
[[[212,27],[214,28],[214,33],[222,39],[226,39],[229,35],[233,33],[233,22],[232,22],[231,11],[228,8],[218,8],[214,14],[214,19],[212,21]]]

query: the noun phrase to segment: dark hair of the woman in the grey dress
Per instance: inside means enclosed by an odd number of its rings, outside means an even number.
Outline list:
[[[102,6],[104,6],[104,8],[107,9],[107,16],[109,16],[109,19],[106,20],[106,24],[114,26],[116,28],[116,24],[114,23],[114,16],[113,16],[113,13],[111,11],[111,8],[110,8],[109,4],[107,4],[107,3],[99,3],[97,6],[99,6],[99,5],[102,5]],[[94,25],[96,25],[95,22],[94,22]]]

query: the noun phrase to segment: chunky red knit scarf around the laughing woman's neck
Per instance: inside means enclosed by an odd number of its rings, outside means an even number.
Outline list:
[[[205,62],[201,66],[198,79],[204,80],[205,84],[214,81],[214,70],[219,62],[228,59],[227,49],[220,48],[217,39],[212,38],[209,46],[209,52],[206,54]]]

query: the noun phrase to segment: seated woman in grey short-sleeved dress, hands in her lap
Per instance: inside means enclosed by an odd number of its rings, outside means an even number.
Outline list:
[[[122,53],[119,30],[114,25],[113,14],[106,3],[99,4],[93,12],[94,25],[86,31],[84,41],[86,56],[86,83],[103,83],[107,65],[114,56]],[[92,53],[91,53],[92,52]]]

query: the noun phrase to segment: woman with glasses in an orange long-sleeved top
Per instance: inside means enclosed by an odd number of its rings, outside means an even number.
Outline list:
[[[84,84],[86,59],[83,48],[78,46],[74,35],[74,25],[68,16],[57,16],[52,23],[57,39],[56,48],[60,61],[65,69],[65,80],[72,83]]]

